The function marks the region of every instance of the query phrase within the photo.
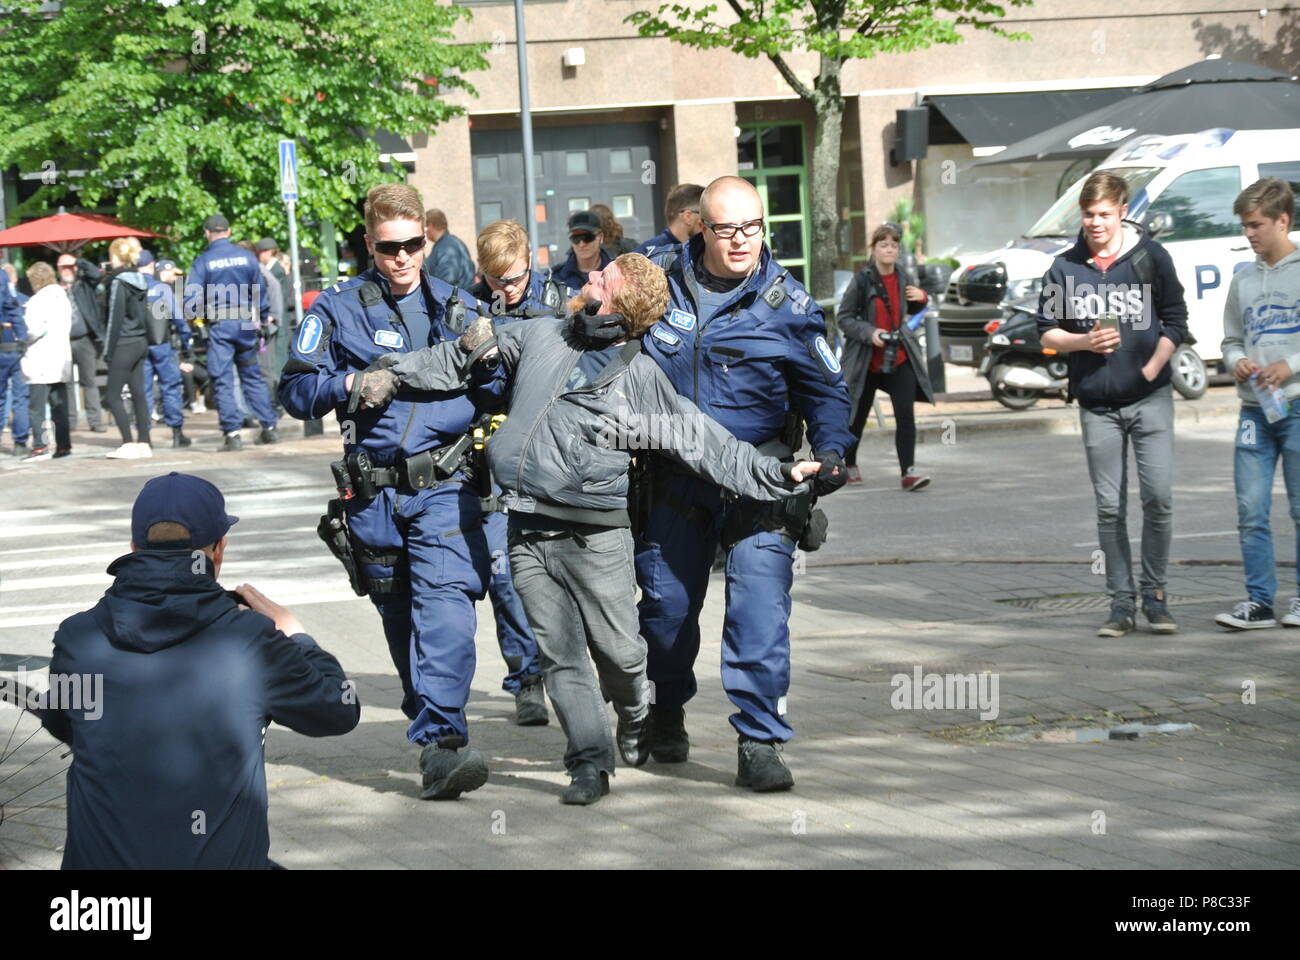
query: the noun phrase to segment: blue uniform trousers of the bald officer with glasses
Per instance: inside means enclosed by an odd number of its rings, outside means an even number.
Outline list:
[[[649,645],[654,702],[681,706],[696,695],[699,610],[718,540],[738,505],[712,484],[672,472],[656,483],[646,529],[637,540],[641,635]],[[736,705],[731,723],[758,740],[785,741],[790,686],[790,587],[794,541],[750,527],[727,553],[727,615],[723,622],[723,689]]]

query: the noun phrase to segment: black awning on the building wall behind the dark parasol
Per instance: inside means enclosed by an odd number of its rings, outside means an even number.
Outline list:
[[[1005,147],[1063,120],[1109,107],[1132,92],[1132,87],[1098,87],[1032,94],[952,94],[927,96],[923,103],[933,108],[932,129],[937,113],[972,147]],[[931,137],[931,143],[944,140],[941,137]]]

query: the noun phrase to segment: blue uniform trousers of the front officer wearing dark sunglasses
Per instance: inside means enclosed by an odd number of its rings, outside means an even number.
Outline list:
[[[402,678],[407,738],[468,741],[474,601],[484,597],[491,566],[477,494],[462,483],[428,490],[386,487],[370,501],[348,501],[347,511],[354,540],[384,561],[359,555],[365,576],[396,578],[400,587],[372,592],[370,602]]]

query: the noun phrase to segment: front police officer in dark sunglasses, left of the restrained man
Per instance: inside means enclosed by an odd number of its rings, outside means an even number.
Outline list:
[[[424,216],[412,187],[370,189],[365,245],[374,265],[312,304],[290,346],[280,398],[300,420],[330,410],[338,416],[344,459],[332,468],[341,494],[321,536],[352,565],[354,588],[369,594],[384,620],[411,718],[407,738],[424,748],[421,796],[454,800],[488,780],[482,754],[468,748],[465,702],[474,601],[491,562],[482,490],[465,483],[463,460],[448,458],[489,398],[403,390],[382,407],[361,402],[381,355],[460,336],[452,289],[421,269]]]

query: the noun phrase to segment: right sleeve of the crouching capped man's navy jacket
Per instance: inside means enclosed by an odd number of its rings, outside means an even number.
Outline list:
[[[307,633],[270,627],[260,637],[270,718],[306,736],[338,736],[361,719],[356,688],[339,662]]]

